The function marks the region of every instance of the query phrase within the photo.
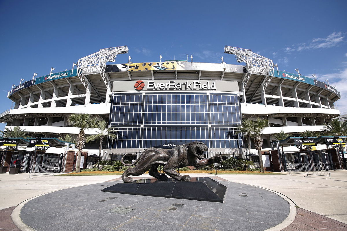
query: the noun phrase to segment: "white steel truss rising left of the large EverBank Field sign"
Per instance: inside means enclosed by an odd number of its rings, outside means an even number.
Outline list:
[[[86,75],[99,73],[106,87],[110,87],[110,77],[105,72],[106,63],[114,62],[118,54],[128,53],[127,46],[100,49],[100,51],[78,60],[77,75],[87,89],[89,83]]]

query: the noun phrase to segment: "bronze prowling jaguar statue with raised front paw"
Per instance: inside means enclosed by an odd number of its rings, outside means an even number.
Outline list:
[[[192,178],[188,175],[181,176],[175,169],[186,166],[205,167],[213,163],[220,163],[222,156],[213,156],[210,159],[204,158],[204,151],[207,151],[207,146],[202,142],[192,142],[171,149],[163,148],[147,148],[134,163],[124,163],[125,154],[122,157],[122,164],[125,166],[136,166],[128,168],[122,174],[122,180],[126,183],[133,182],[134,179],[128,176],[139,176],[149,171],[152,177],[157,179],[167,179],[165,174],[158,173],[158,166],[162,165],[163,170],[169,177],[178,181],[190,181]]]

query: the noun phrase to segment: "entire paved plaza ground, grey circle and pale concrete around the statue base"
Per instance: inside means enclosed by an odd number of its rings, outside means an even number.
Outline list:
[[[316,225],[316,230],[321,227],[325,231],[342,231],[347,229],[343,224],[347,222],[346,173],[334,171],[331,179],[286,174],[190,174],[192,177],[214,177],[226,185],[228,190],[223,203],[101,192],[102,188],[121,182],[120,176],[114,175],[27,179],[27,174],[1,174],[0,209],[8,214],[15,208],[12,219],[17,226],[22,222],[22,226],[18,226],[20,229],[8,224],[13,228],[8,230],[256,231],[270,228],[297,231],[307,227],[315,230]],[[141,176],[147,177],[146,174]],[[296,210],[294,205],[300,207],[296,218],[295,214],[289,215],[290,210],[291,213]],[[110,212],[116,207],[131,211],[126,214]],[[0,230],[4,224],[0,221]]]

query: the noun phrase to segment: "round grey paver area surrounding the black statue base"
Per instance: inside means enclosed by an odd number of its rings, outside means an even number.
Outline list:
[[[277,194],[229,181],[219,181],[228,187],[223,203],[101,192],[118,182],[122,181],[37,197],[24,205],[20,217],[40,231],[261,231],[281,223],[290,210],[288,202]],[[247,197],[240,197],[242,194]],[[174,203],[184,205],[172,207]],[[115,207],[135,209],[127,214],[107,212]]]

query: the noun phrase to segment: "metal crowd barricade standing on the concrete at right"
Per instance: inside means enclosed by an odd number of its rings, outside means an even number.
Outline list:
[[[290,173],[305,174],[314,176],[325,176],[330,178],[329,165],[327,163],[287,163],[287,170]]]

